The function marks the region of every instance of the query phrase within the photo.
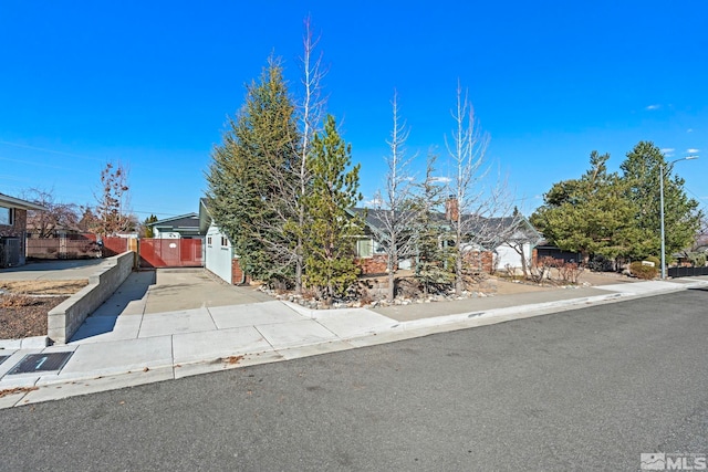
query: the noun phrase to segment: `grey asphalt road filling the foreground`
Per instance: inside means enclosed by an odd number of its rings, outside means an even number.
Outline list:
[[[1,470],[638,470],[708,455],[707,291],[0,410]]]

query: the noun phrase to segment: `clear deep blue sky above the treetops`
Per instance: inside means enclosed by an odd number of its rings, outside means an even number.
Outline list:
[[[702,0],[0,0],[0,192],[93,204],[121,160],[140,220],[197,211],[210,150],[271,52],[298,92],[308,14],[366,198],[383,183],[394,88],[408,151],[437,146],[442,162],[459,78],[524,212],[593,149],[615,169],[639,140],[701,156],[675,170],[708,204]]]

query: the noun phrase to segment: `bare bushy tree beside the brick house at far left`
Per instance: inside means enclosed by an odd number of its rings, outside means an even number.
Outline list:
[[[77,207],[74,203],[58,202],[53,189],[32,188],[23,197],[46,209],[46,211],[29,210],[27,213],[28,227],[38,238],[53,238],[56,235],[56,230],[76,229]]]

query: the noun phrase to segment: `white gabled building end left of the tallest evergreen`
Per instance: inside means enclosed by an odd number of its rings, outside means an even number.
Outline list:
[[[199,200],[199,233],[204,237],[204,266],[232,285],[246,283],[231,241],[211,218],[206,198]]]

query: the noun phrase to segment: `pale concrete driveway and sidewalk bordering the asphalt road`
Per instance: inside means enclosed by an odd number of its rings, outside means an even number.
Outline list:
[[[589,304],[708,287],[708,277],[699,277],[376,311],[311,311],[231,286],[220,292],[205,285],[208,293],[195,297],[186,289],[180,291],[179,283],[155,285],[150,277],[152,272],[132,274],[67,345],[20,348],[0,342],[0,408],[391,343]],[[167,290],[163,295],[177,300],[184,310],[159,311],[159,290]],[[59,353],[65,354],[62,357]],[[28,355],[35,356],[29,358],[31,363],[23,363]],[[13,373],[21,364],[31,364],[28,371]]]

